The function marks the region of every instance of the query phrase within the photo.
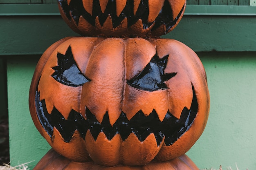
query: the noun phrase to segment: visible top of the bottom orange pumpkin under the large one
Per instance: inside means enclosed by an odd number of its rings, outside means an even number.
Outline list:
[[[165,162],[152,161],[144,166],[105,167],[94,162],[78,163],[59,155],[53,149],[38,162],[33,170],[199,170],[186,155]]]

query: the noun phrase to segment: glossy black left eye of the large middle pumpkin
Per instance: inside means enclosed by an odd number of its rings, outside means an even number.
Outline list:
[[[52,77],[57,82],[73,87],[90,82],[90,79],[86,78],[77,67],[70,46],[67,48],[65,55],[58,53],[57,58],[58,66],[52,68],[55,70]]]

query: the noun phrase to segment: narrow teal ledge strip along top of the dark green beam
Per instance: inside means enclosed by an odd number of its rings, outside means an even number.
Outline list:
[[[0,15],[60,15],[57,4],[0,4]],[[255,16],[256,7],[238,5],[186,5],[184,15]]]

